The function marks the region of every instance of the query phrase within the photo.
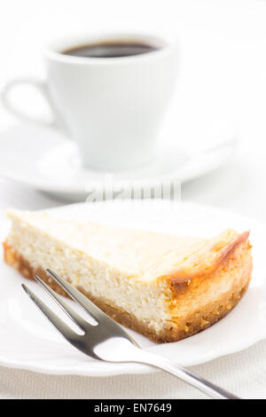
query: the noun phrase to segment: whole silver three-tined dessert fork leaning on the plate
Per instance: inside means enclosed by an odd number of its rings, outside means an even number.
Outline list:
[[[217,387],[215,384],[206,381],[191,371],[178,366],[175,362],[163,358],[159,355],[153,354],[149,351],[138,347],[137,342],[123,330],[113,319],[110,319],[103,311],[86,298],[80,291],[74,288],[65,279],[60,278],[56,273],[47,270],[51,277],[62,287],[68,295],[70,295],[77,303],[79,303],[83,310],[89,313],[90,317],[97,321],[97,325],[93,326],[85,319],[83,319],[76,311],[57,295],[50,287],[48,287],[42,279],[35,275],[44,289],[51,295],[51,297],[59,304],[59,306],[66,312],[70,319],[72,319],[77,327],[80,328],[82,334],[74,332],[74,330],[67,326],[66,323],[59,319],[51,309],[43,303],[43,301],[35,295],[25,284],[22,287],[27,295],[33,300],[36,306],[43,311],[43,314],[51,321],[54,327],[66,338],[68,342],[83,353],[98,360],[106,362],[133,362],[145,364],[160,368],[163,371],[173,374],[184,382],[189,383],[192,387],[200,389],[200,391],[207,394],[208,397],[215,399],[239,399],[232,395],[225,389]]]

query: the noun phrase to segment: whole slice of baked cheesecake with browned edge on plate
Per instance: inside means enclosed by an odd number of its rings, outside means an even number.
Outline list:
[[[59,294],[58,273],[122,325],[173,342],[223,318],[251,279],[248,232],[213,239],[120,229],[11,210],[4,259]]]

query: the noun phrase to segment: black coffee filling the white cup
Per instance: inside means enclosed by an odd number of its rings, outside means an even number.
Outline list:
[[[75,46],[63,51],[66,55],[87,58],[119,58],[157,51],[159,46],[140,42],[103,42]]]

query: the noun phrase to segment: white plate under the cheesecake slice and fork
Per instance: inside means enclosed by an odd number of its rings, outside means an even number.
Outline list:
[[[254,276],[246,295],[228,316],[200,334],[180,342],[157,344],[133,334],[147,350],[160,353],[183,366],[192,366],[243,350],[266,336],[266,227],[252,219],[221,209],[170,201],[106,201],[52,209],[66,218],[90,218],[104,224],[150,229],[185,235],[212,236],[227,227],[251,230]],[[9,224],[1,225],[1,238]],[[21,289],[25,279],[0,264],[0,365],[48,374],[113,375],[151,372],[148,366],[106,364],[75,350],[37,311]],[[45,298],[35,282],[28,286]],[[46,299],[47,300],[47,299]],[[48,299],[48,303],[53,303]],[[69,301],[69,303],[73,303]]]

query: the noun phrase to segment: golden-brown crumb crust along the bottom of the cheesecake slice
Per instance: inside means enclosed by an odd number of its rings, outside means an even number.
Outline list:
[[[247,240],[248,234],[245,234],[245,236],[244,234],[245,233],[241,235],[242,239],[236,241],[230,250],[227,248],[227,253],[223,254],[221,262],[230,256],[241,242]],[[20,254],[8,244],[7,240],[4,242],[3,246],[4,261],[20,271],[21,275],[27,279],[33,279],[34,275],[37,274],[59,295],[68,296],[66,295],[66,292],[59,287],[59,284],[51,279],[51,276],[43,270],[43,268],[34,268],[23,256],[20,256]],[[93,303],[98,305],[102,311],[105,311],[108,316],[121,323],[121,325],[129,327],[137,333],[145,334],[145,336],[153,340],[153,342],[176,342],[184,339],[185,337],[189,337],[192,334],[197,334],[200,331],[205,330],[207,327],[212,326],[215,322],[228,314],[235,307],[235,305],[239,303],[239,300],[245,294],[251,279],[251,273],[252,261],[250,258],[243,271],[241,271],[238,287],[234,287],[233,291],[224,292],[218,299],[213,300],[211,303],[207,303],[207,305],[205,305],[199,312],[188,316],[183,327],[177,326],[174,321],[165,321],[160,333],[155,332],[153,328],[149,327],[148,322],[140,321],[134,315],[123,311],[120,307],[115,306],[108,300],[104,298],[96,298],[90,293],[84,292],[82,287],[77,288],[84,295],[90,298]],[[187,282],[185,283],[185,286],[187,286]],[[178,289],[180,289],[180,287]]]

